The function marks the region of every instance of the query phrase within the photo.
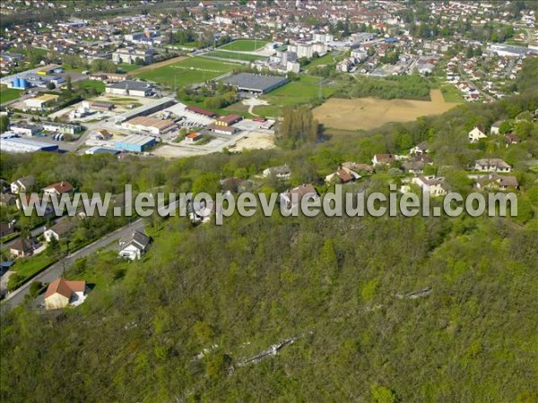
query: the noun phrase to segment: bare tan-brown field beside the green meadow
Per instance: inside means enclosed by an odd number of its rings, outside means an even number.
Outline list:
[[[326,127],[369,130],[388,122],[407,122],[419,116],[438,115],[456,107],[445,102],[440,90],[432,90],[431,101],[408,99],[328,99],[314,109],[314,117]]]

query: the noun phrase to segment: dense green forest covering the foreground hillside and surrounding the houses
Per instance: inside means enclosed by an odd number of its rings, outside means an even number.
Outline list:
[[[67,272],[96,283],[81,306],[2,312],[0,399],[537,401],[538,174],[523,161],[538,155],[529,118],[538,97],[525,87],[532,80],[520,83],[525,90],[513,99],[294,149],[172,161],[3,155],[7,179],[32,173],[42,184],[62,176],[90,192],[118,193],[125,183],[214,192],[221,178],[252,178],[284,163],[290,183],[257,179],[262,191],[308,182],[323,191],[318,178],[343,161],[369,162],[374,153],[429,141],[433,168],[443,167],[464,192],[471,190],[462,180],[469,161],[513,160],[521,216],[275,212],[235,215],[221,227],[150,220],[153,243],[141,261],[100,253]],[[513,122],[524,141],[469,146],[473,125],[499,119]],[[364,183],[384,188],[398,180],[380,172]],[[277,354],[253,358],[273,345],[282,346]]]

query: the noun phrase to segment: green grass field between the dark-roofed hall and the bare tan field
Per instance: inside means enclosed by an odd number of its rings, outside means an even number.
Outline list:
[[[254,108],[254,113],[261,116],[278,116],[282,107],[308,104],[319,94],[319,77],[301,75],[299,81],[291,81],[276,90],[264,95],[262,99],[269,102],[268,106]],[[335,88],[322,86],[324,98],[334,94]]]

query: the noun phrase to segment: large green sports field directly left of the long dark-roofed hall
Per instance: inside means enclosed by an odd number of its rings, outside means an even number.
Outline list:
[[[180,87],[214,79],[221,74],[231,72],[238,66],[239,64],[232,62],[221,62],[204,57],[189,57],[178,63],[142,72],[137,70],[134,75],[145,80],[166,84],[169,87],[172,87],[176,81]]]

